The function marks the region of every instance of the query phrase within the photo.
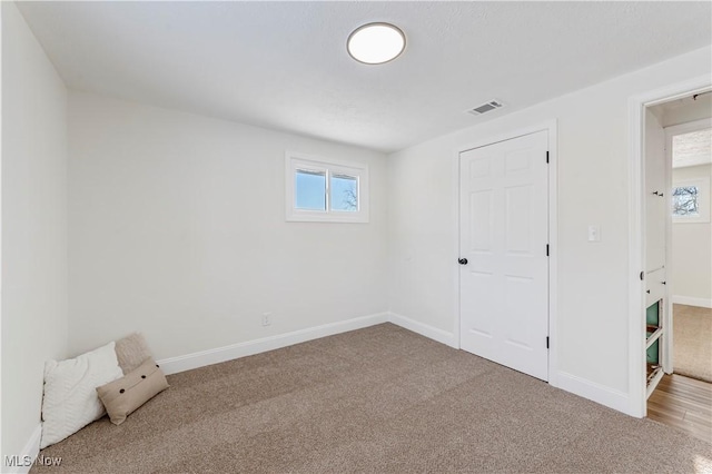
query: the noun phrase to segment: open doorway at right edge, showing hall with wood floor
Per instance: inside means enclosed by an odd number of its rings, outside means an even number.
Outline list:
[[[644,168],[647,416],[710,440],[712,93],[709,90],[646,107]]]

